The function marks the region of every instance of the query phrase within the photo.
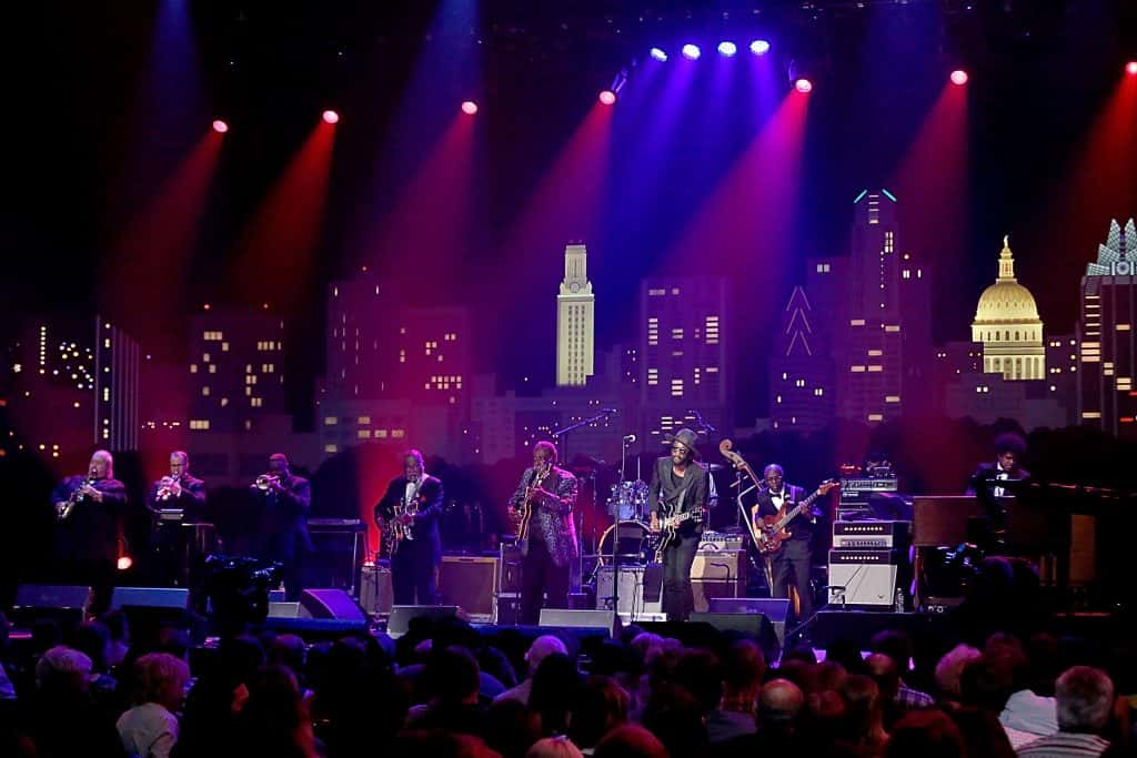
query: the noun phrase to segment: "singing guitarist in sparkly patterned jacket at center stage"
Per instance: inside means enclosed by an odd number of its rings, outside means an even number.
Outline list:
[[[557,467],[551,442],[533,445],[533,465],[521,475],[509,508],[528,524],[518,526],[521,545],[521,623],[536,624],[541,595],[548,608],[568,607],[568,567],[579,553],[572,511],[576,506],[576,477]]]

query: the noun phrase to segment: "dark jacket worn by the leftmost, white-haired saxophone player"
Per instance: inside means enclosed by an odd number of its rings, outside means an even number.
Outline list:
[[[83,486],[85,476],[68,476],[51,493],[51,503],[65,502]],[[115,560],[118,558],[118,516],[126,507],[126,486],[118,480],[96,480],[91,486],[102,493],[102,502],[78,501],[57,530],[57,557],[69,560]]]

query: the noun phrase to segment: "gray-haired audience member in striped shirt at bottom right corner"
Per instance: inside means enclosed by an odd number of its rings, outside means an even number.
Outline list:
[[[1102,736],[1113,713],[1110,675],[1093,666],[1074,666],[1059,676],[1054,689],[1059,731],[1019,748],[1019,758],[1099,756],[1110,747]]]

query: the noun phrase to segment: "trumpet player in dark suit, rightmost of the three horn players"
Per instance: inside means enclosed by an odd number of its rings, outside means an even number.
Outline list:
[[[283,566],[284,597],[300,599],[304,588],[300,565],[312,552],[308,535],[308,508],[312,485],[290,470],[288,456],[274,452],[268,457],[268,472],[257,477],[249,489],[260,499],[260,557]]]

